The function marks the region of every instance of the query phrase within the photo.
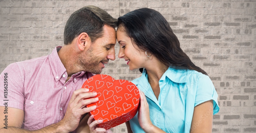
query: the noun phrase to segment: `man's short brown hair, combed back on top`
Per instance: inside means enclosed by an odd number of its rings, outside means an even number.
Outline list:
[[[64,44],[69,45],[74,38],[86,32],[91,41],[103,36],[103,26],[117,27],[117,19],[97,6],[85,6],[69,17],[64,29]]]

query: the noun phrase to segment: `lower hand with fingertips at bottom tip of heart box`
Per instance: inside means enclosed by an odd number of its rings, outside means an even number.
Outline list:
[[[93,119],[93,115],[91,115],[87,121],[87,124],[89,125],[90,127],[90,132],[91,133],[112,133],[112,131],[110,129],[106,130],[104,128],[98,128],[98,127],[95,127],[97,124],[100,124],[102,123],[102,120],[95,120],[92,122],[92,119]]]

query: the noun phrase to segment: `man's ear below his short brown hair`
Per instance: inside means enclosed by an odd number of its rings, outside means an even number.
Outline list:
[[[80,35],[78,35],[77,46],[79,50],[84,51],[85,49],[90,48],[91,43],[91,39],[87,33],[83,32]]]

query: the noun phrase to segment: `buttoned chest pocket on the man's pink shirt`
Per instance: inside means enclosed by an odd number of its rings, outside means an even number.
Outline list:
[[[24,121],[22,128],[37,130],[43,128],[46,111],[46,102],[25,99]]]

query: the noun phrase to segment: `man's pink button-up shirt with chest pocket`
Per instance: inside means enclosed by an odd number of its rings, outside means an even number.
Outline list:
[[[94,75],[81,71],[65,83],[68,75],[57,53],[60,48],[56,47],[47,56],[12,63],[0,75],[0,106],[8,102],[8,107],[24,110],[24,129],[36,130],[62,120],[73,92]],[[4,73],[8,81],[7,98],[4,98]]]

